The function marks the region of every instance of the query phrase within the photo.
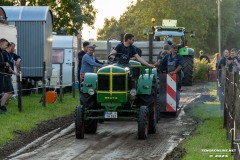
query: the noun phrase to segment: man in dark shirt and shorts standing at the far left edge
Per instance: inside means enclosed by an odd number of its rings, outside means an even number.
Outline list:
[[[6,41],[5,41],[6,42]],[[4,72],[4,95],[1,100],[1,113],[6,113],[7,108],[5,106],[7,100],[13,95],[14,89],[12,85],[12,74],[19,76],[18,73],[14,72],[14,60],[11,62],[11,54],[12,51],[11,44],[7,42],[7,47],[3,51],[4,62],[9,64],[9,67],[5,67]]]

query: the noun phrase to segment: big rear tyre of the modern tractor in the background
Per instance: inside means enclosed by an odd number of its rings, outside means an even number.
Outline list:
[[[183,86],[192,86],[193,84],[193,56],[183,56]]]

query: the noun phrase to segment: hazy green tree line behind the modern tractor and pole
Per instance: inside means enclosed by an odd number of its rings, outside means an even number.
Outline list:
[[[222,50],[233,47],[240,49],[240,1],[222,0],[221,46]],[[124,33],[133,33],[138,41],[147,40],[144,29],[160,26],[162,19],[176,19],[177,26],[194,31],[195,38],[187,37],[189,47],[196,51],[203,49],[213,55],[218,52],[218,4],[217,0],[138,0],[127,8],[119,20],[114,17],[104,20],[98,29],[97,39],[120,39]]]

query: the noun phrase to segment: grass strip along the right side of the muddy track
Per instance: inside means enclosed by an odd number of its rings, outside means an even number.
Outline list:
[[[216,96],[215,83],[210,83],[209,87],[208,94]],[[182,159],[232,160],[233,156],[229,152],[231,149],[230,141],[226,140],[226,129],[223,128],[223,110],[220,109],[218,99],[193,107],[189,114],[198,120],[199,126],[186,141],[181,143],[181,147],[186,150],[186,155]],[[220,152],[214,151],[217,149]]]

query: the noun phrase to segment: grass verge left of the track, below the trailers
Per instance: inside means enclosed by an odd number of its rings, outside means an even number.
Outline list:
[[[41,94],[24,96],[22,98],[22,112],[18,111],[17,99],[7,103],[7,114],[0,115],[1,147],[15,137],[15,131],[29,131],[43,121],[70,115],[79,104],[77,91],[75,98],[72,97],[71,93],[65,93],[62,102],[57,100],[55,103],[47,103],[46,107],[40,103],[41,96]]]

